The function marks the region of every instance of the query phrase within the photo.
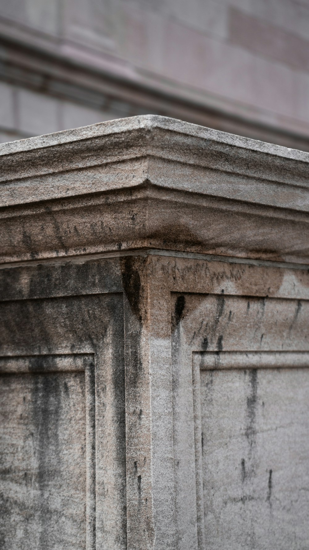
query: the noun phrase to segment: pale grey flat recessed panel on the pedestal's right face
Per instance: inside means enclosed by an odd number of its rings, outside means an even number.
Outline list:
[[[200,376],[205,548],[307,548],[309,369]]]

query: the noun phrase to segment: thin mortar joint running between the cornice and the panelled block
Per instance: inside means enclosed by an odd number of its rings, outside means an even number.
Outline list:
[[[10,269],[12,267],[56,265],[61,263],[85,263],[90,260],[101,260],[109,258],[118,258],[124,256],[172,256],[179,258],[188,258],[192,260],[206,260],[208,262],[241,263],[258,267],[280,267],[295,270],[309,270],[308,263],[297,262],[278,262],[273,260],[256,260],[251,258],[238,258],[233,256],[217,256],[214,254],[203,254],[201,252],[182,252],[178,250],[165,249],[139,249],[139,250],[119,250],[113,252],[102,252],[94,254],[81,254],[76,256],[61,256],[55,258],[43,258],[42,260],[23,260],[16,262],[1,263],[0,270]],[[117,291],[116,291],[117,292]]]

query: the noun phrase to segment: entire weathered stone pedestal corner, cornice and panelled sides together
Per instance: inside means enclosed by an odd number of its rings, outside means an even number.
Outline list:
[[[306,548],[308,153],[153,116],[0,152],[4,550]]]

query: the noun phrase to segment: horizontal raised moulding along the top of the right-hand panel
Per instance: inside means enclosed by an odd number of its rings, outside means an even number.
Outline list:
[[[309,351],[194,351],[192,355],[201,370],[309,367]]]

